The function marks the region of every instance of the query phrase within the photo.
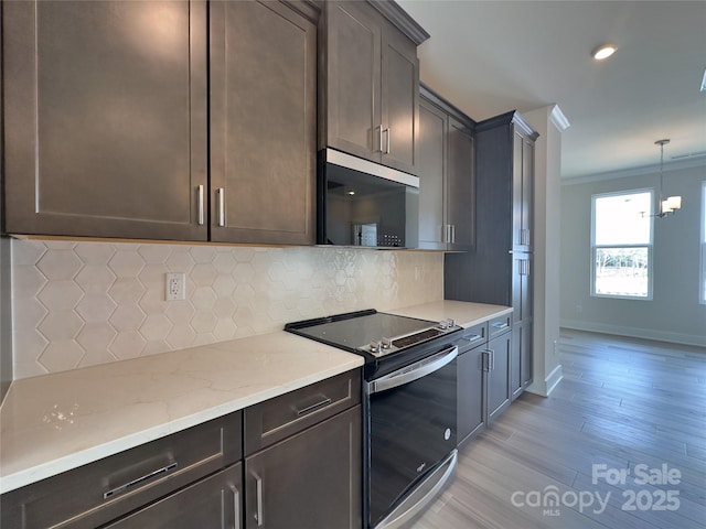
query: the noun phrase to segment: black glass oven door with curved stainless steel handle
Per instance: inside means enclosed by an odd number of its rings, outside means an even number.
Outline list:
[[[448,346],[367,382],[371,528],[399,527],[440,488],[425,482],[456,450],[457,356],[458,347]],[[417,498],[417,488],[429,493]]]

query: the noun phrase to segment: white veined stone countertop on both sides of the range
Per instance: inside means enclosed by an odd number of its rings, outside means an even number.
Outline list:
[[[471,326],[512,309],[441,301],[385,312]],[[280,331],[17,380],[0,407],[0,493],[362,365]]]

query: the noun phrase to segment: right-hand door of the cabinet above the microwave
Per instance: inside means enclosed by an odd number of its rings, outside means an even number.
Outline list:
[[[417,46],[385,22],[382,43],[382,163],[417,174],[419,61]]]

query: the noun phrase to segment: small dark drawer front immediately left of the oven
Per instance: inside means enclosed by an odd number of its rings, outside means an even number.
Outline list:
[[[361,401],[361,371],[336,375],[245,409],[245,455]]]

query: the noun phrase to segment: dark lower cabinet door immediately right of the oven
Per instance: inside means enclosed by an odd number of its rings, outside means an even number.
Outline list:
[[[459,445],[485,425],[485,347],[480,345],[459,354],[458,369],[458,439]]]

